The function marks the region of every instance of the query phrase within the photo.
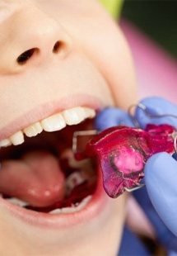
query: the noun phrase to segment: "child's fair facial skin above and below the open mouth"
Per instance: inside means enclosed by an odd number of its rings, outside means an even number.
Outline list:
[[[56,102],[59,109],[77,106],[83,95],[96,97],[102,107],[126,109],[136,102],[128,45],[95,0],[3,0],[0,12],[1,140],[47,116]],[[58,40],[62,43],[53,53]],[[31,48],[37,48],[35,54],[17,64]],[[0,254],[114,255],[124,211],[122,196],[109,200],[106,213],[88,223],[44,232],[0,206]]]

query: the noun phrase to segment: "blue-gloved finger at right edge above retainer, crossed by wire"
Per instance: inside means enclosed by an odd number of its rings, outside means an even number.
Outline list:
[[[161,97],[147,97],[140,103],[146,107],[147,112],[150,114],[150,116],[147,115],[146,111],[141,107],[136,108],[135,117],[143,129],[149,123],[156,125],[169,124],[177,128],[177,105]],[[161,115],[167,116],[160,117]],[[168,115],[174,115],[176,118]]]

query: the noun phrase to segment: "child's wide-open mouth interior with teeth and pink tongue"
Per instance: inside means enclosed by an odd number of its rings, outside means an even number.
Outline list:
[[[98,173],[96,161],[74,159],[72,135],[90,130],[94,117],[91,108],[73,107],[0,141],[2,200],[50,215],[81,211],[96,191]]]

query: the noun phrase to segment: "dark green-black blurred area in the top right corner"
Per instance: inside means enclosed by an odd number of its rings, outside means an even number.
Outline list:
[[[122,17],[177,57],[177,0],[124,0]]]

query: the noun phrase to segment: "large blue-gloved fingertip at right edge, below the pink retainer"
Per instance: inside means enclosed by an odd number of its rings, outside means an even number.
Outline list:
[[[177,162],[167,153],[153,155],[145,166],[145,183],[153,206],[177,236]]]

